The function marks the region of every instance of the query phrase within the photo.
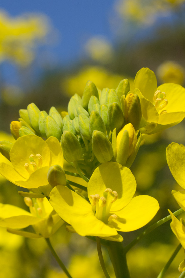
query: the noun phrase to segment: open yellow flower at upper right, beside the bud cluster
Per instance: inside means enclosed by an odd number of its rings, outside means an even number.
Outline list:
[[[162,131],[185,117],[185,89],[182,86],[166,83],[157,87],[154,72],[143,67],[136,74],[134,87],[143,115],[140,127],[150,122],[157,124],[153,131],[147,133]]]

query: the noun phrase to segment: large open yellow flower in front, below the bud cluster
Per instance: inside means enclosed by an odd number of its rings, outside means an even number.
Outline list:
[[[98,236],[122,241],[117,231],[134,231],[147,224],[159,204],[153,197],[133,195],[136,181],[131,171],[116,162],[106,162],[93,172],[88,182],[87,202],[64,186],[55,186],[50,203],[60,217],[82,236]]]

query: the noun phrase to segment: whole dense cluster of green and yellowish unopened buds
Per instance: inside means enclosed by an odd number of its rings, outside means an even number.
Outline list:
[[[10,124],[11,133],[15,139],[28,134],[56,137],[65,160],[78,163],[89,176],[99,163],[132,165],[140,144],[141,136],[137,135],[142,113],[140,99],[130,92],[128,79],[122,80],[117,89],[102,91],[88,81],[82,98],[72,96],[67,110],[60,115],[51,107],[48,115],[31,103],[19,110],[19,121]]]

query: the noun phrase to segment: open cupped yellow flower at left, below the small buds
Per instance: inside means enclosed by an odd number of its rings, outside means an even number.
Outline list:
[[[10,150],[12,166],[1,162],[0,173],[10,182],[29,189],[48,184],[47,172],[55,164],[63,167],[64,158],[59,141],[46,141],[36,135],[19,137]]]

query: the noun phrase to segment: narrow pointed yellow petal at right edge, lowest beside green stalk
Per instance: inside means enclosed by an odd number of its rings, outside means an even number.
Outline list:
[[[180,243],[182,244],[183,248],[185,248],[185,227],[184,225],[173,215],[173,213],[168,210],[170,215],[171,215],[171,219],[172,222],[170,223],[171,229],[173,231],[173,233],[176,235],[177,239],[180,241]]]

